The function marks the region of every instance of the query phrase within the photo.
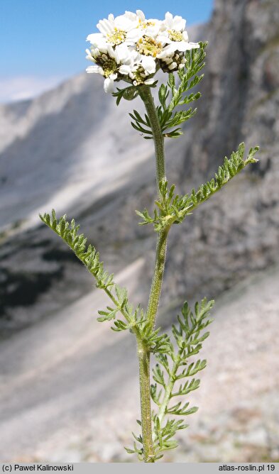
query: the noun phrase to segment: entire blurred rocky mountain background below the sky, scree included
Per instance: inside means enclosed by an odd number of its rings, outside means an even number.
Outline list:
[[[203,408],[180,461],[279,458],[278,31],[277,0],[217,0],[209,25],[191,35],[209,40],[206,74],[198,114],[167,144],[170,182],[187,192],[242,140],[261,145],[261,161],[170,233],[160,321],[185,297],[219,301],[197,395]],[[155,235],[134,209],[152,209],[154,157],[129,124],[135,107],[116,108],[102,79],[84,74],[0,107],[5,461],[123,459],[138,396],[133,340],[95,321],[102,294],[38,212],[75,216],[116,280],[146,303]]]

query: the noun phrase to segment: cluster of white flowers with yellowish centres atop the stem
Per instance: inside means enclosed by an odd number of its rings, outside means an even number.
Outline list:
[[[176,71],[185,64],[185,51],[199,48],[190,43],[181,16],[165,13],[165,20],[147,20],[141,10],[124,15],[110,14],[99,21],[100,33],[87,36],[92,46],[87,59],[95,63],[87,72],[105,77],[105,92],[113,92],[114,81],[124,80],[134,86],[153,84],[155,72]]]

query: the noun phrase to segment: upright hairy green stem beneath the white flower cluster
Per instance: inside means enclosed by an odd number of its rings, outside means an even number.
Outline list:
[[[153,132],[155,159],[156,159],[156,183],[157,192],[160,199],[160,181],[165,180],[165,153],[164,138],[161,131],[158,114],[155,108],[150,87],[142,86],[140,96],[146,106],[148,118],[151,122]],[[160,292],[163,282],[165,268],[165,254],[167,250],[168,230],[164,229],[158,234],[155,268],[151,285],[151,292],[148,299],[147,319],[151,326],[155,326],[155,319],[158,312]],[[151,419],[151,390],[150,390],[150,353],[146,351],[143,343],[138,340],[138,361],[141,388],[141,425],[143,433],[143,456],[146,463],[153,463],[154,448],[152,439],[152,419]]]

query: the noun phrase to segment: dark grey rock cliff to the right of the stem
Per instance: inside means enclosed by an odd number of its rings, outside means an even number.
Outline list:
[[[184,187],[189,177],[211,177],[242,140],[261,145],[261,162],[188,219],[184,232],[173,232],[170,248],[180,253],[169,260],[167,280],[174,286],[177,275],[181,295],[185,288],[191,297],[217,294],[278,260],[278,31],[276,1],[215,3],[203,99],[177,180]]]

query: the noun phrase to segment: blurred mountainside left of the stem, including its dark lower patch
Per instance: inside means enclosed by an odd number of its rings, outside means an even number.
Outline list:
[[[154,157],[151,140],[130,126],[135,106],[143,109],[138,100],[116,107],[103,79],[85,73],[32,101],[0,106],[1,334],[53,314],[92,285],[39,212],[75,216],[111,270],[142,253],[141,238],[148,239],[134,209],[137,199],[153,199]]]

